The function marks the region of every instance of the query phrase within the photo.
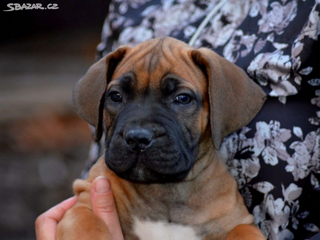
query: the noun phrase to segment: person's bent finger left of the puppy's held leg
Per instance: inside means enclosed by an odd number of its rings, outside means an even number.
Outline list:
[[[78,197],[73,196],[42,213],[36,219],[36,239],[55,240],[57,224],[64,213],[76,204]]]

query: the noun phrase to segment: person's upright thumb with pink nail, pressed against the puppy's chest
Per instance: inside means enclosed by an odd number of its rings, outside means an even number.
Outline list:
[[[90,199],[93,212],[105,222],[112,239],[123,240],[115,199],[107,178],[99,176],[92,182]]]

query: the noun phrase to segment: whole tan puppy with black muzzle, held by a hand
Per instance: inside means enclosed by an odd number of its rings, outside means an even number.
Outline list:
[[[173,38],[122,46],[74,89],[78,114],[106,133],[105,155],[57,239],[111,239],[91,211],[89,190],[108,177],[126,240],[264,239],[219,157],[222,139],[246,125],[265,94],[213,51]]]

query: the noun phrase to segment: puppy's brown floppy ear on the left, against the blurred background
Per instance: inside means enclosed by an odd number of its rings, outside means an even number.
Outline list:
[[[122,46],[101,58],[89,68],[73,89],[72,100],[75,110],[80,117],[95,126],[96,142],[102,136],[102,116],[107,85],[116,66],[129,50],[131,50],[130,46]]]

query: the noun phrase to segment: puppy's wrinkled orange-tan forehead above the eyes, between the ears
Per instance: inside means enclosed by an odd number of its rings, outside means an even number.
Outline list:
[[[138,92],[185,87],[204,95],[207,81],[190,57],[190,50],[180,43],[138,45],[116,67],[109,85],[126,84]]]

